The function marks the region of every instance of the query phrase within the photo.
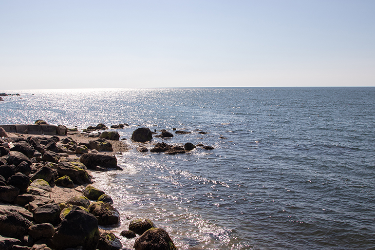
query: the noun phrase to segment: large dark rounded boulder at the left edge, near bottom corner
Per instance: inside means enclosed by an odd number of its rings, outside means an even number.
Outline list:
[[[0,235],[20,239],[27,234],[32,223],[17,212],[0,215]]]

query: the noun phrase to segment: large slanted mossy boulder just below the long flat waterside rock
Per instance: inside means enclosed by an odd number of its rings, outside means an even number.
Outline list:
[[[66,162],[62,161],[58,163],[57,173],[60,176],[69,176],[75,184],[86,184],[91,183],[91,176],[86,171],[85,165],[80,162]]]

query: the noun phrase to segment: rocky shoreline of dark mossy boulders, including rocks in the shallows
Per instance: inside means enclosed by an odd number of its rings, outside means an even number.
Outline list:
[[[152,139],[149,129],[143,132],[134,131],[131,139]],[[0,128],[1,250],[123,248],[116,235],[99,228],[118,224],[119,212],[111,197],[91,185],[92,171],[121,170],[115,154],[130,146],[116,133],[82,134],[73,129],[63,136],[24,135]],[[157,143],[150,151],[182,154],[195,147],[190,144],[176,148]],[[136,250],[177,249],[168,233],[148,218],[132,220],[121,237],[138,237]]]

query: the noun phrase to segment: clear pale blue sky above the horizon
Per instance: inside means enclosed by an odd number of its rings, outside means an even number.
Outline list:
[[[374,0],[0,0],[0,90],[375,86]]]

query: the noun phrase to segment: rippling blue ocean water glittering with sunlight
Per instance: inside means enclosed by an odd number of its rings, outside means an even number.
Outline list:
[[[121,214],[117,235],[148,217],[182,250],[375,249],[375,88],[7,93],[21,96],[0,102],[3,124],[130,125],[116,130],[132,147],[117,154],[124,170],[94,173]],[[139,153],[141,126],[215,149]]]

